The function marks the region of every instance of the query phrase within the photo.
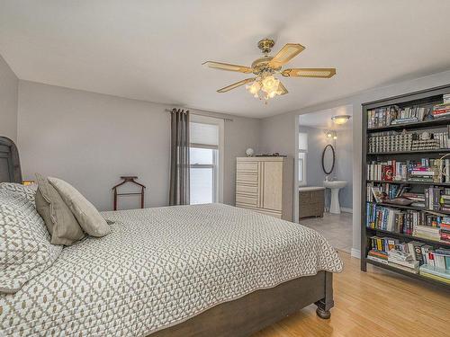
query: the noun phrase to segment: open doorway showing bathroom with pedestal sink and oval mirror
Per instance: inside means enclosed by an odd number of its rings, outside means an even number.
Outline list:
[[[299,222],[351,253],[353,241],[353,106],[299,116]]]

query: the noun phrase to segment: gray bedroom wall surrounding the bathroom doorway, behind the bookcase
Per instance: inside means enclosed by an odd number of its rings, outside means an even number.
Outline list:
[[[361,247],[361,104],[386,97],[450,84],[450,71],[414,80],[367,90],[336,101],[324,102],[299,111],[292,111],[261,121],[260,149],[295,155],[297,148],[298,115],[351,104],[353,106],[353,250],[356,256]]]

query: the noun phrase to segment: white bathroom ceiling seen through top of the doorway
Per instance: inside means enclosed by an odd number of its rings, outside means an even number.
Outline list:
[[[337,125],[333,123],[331,118],[338,115],[348,115],[350,120],[346,124]],[[326,130],[351,130],[353,129],[353,106],[344,105],[336,107],[333,109],[314,111],[311,113],[306,113],[299,116],[299,125],[301,127],[309,127],[315,129],[326,129]]]

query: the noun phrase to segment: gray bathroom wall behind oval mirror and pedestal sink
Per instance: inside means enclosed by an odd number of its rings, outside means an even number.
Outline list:
[[[338,139],[325,137],[323,129],[299,127],[299,132],[308,134],[306,181],[308,186],[323,186],[325,173],[322,170],[322,151],[331,144],[336,151],[334,170],[330,178],[346,181],[347,186],[339,191],[341,208],[353,208],[353,138],[352,132],[338,131]],[[329,207],[329,190],[326,191],[326,207]]]

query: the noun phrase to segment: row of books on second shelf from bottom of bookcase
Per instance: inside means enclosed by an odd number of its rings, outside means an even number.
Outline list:
[[[450,217],[416,209],[401,210],[367,202],[365,226],[450,243]]]

